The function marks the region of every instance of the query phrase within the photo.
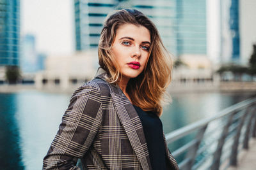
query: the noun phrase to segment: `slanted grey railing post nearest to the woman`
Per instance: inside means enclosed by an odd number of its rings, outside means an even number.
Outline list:
[[[208,125],[208,124],[207,124]],[[196,143],[195,146],[193,148],[191,148],[188,153],[186,154],[186,158],[189,158],[190,161],[188,163],[188,166],[186,169],[192,169],[192,166],[195,162],[195,158],[196,158],[196,152],[199,148],[199,145],[202,141],[202,138],[204,137],[204,132],[207,128],[207,125],[205,125],[204,127],[202,127],[201,129],[198,130],[197,134],[196,134]]]

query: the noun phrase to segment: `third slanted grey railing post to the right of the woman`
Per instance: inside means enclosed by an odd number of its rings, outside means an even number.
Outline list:
[[[234,144],[232,145],[232,151],[230,154],[230,165],[231,166],[236,166],[237,165],[237,149],[238,149],[238,145],[239,145],[239,138],[240,138],[240,134],[241,134],[241,129],[243,127],[244,124],[244,120],[246,118],[246,116],[248,115],[248,113],[250,112],[250,107],[246,108],[246,110],[244,111],[243,117],[240,119],[239,122],[239,126],[236,129],[236,136],[234,138]]]

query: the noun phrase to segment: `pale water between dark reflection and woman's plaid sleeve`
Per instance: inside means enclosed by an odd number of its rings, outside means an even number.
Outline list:
[[[58,131],[69,96],[40,92],[17,95],[17,122],[26,169],[42,169],[42,160]]]

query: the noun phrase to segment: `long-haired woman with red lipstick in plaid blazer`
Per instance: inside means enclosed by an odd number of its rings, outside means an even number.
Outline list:
[[[76,90],[43,169],[179,169],[159,116],[172,62],[156,26],[137,10],[104,23],[100,68]]]

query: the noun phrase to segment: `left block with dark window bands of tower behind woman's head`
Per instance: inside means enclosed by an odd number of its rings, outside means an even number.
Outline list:
[[[147,5],[145,5],[147,4]],[[175,2],[160,1],[116,1],[116,0],[76,0],[76,50],[97,48],[104,19],[109,12],[122,8],[135,8],[152,18],[163,38],[164,45],[171,51],[175,50],[175,35],[173,34],[173,20],[175,20]]]

